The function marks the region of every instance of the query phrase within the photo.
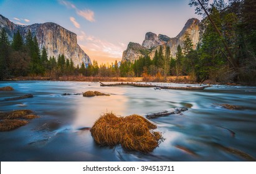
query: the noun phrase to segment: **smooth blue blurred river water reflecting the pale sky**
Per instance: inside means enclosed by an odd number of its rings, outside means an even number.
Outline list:
[[[2,81],[2,86],[12,86],[15,90],[0,91],[0,100],[29,93],[34,98],[0,101],[0,111],[31,109],[40,118],[14,131],[0,132],[1,161],[247,161],[256,158],[256,87],[214,85],[186,91],[62,81]],[[61,95],[88,90],[110,96]],[[229,110],[218,104],[243,108]],[[176,107],[186,107],[188,111],[151,119],[164,141],[148,154],[123,150],[120,145],[100,147],[88,129],[81,130],[92,127],[105,112],[145,116]]]

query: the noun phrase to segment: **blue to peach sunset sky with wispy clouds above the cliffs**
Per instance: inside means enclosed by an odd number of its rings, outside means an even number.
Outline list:
[[[146,32],[176,37],[194,14],[189,0],[0,0],[0,14],[16,24],[55,22],[77,34],[91,60],[120,61],[129,42]]]

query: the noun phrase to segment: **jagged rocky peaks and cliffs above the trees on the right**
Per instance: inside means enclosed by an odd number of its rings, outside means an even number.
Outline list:
[[[181,47],[183,47],[184,45],[186,34],[190,35],[190,39],[193,43],[193,48],[196,49],[196,45],[199,42],[199,23],[200,22],[198,19],[189,19],[184,25],[183,30],[181,30],[181,32],[173,38],[170,38],[167,35],[156,35],[152,32],[147,32],[145,35],[145,40],[143,40],[142,46],[139,43],[136,44],[140,45],[140,47],[136,48],[131,48],[129,46],[130,44],[128,45],[127,49],[123,52],[122,61],[134,62],[142,55],[140,51],[141,49],[143,50],[143,52],[149,52],[149,57],[152,59],[154,57],[154,52],[156,52],[156,50],[159,50],[160,46],[163,47],[163,52],[165,52],[166,47],[169,46],[171,50],[171,56],[175,57],[178,45],[181,45]]]

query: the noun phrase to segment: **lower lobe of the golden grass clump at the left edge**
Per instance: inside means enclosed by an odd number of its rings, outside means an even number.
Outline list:
[[[25,120],[19,119],[4,119],[0,121],[0,131],[12,131],[13,129],[17,129],[21,126],[28,124],[29,122]]]

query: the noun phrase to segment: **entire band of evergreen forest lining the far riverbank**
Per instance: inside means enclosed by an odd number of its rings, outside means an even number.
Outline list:
[[[111,65],[74,65],[59,55],[48,57],[40,52],[37,38],[31,32],[23,40],[19,31],[9,42],[3,29],[0,35],[0,79],[17,76],[102,76],[135,77],[188,75],[192,81],[237,82],[255,84],[256,80],[256,1],[255,0],[191,0],[196,14],[202,16],[201,37],[196,50],[186,35],[183,47],[171,57],[170,48],[160,47],[135,62]]]

